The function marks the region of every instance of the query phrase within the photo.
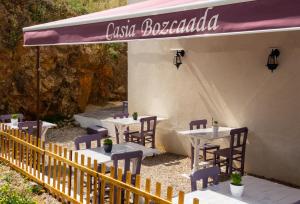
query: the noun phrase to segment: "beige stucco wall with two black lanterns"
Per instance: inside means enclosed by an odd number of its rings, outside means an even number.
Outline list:
[[[250,130],[246,170],[300,185],[300,32],[129,43],[129,111],[168,118],[157,143],[189,153],[175,130],[211,117]],[[280,66],[265,67],[269,47]],[[179,70],[171,48],[184,48]],[[219,141],[224,142],[224,141]],[[226,142],[223,143],[226,146]]]

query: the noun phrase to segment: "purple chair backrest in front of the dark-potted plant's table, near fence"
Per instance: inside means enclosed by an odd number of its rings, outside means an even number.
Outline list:
[[[123,181],[125,182],[126,180],[126,173],[127,171],[130,171],[130,164],[132,162],[135,162],[135,169],[132,169],[132,181],[133,183],[135,182],[135,177],[137,174],[141,173],[141,166],[142,166],[142,158],[143,158],[143,151],[134,151],[134,152],[124,152],[124,153],[118,153],[118,154],[113,154],[111,156],[111,160],[113,161],[113,165],[116,169],[115,177],[117,177],[117,169],[119,168],[119,162],[123,161],[124,163],[124,168],[123,168]],[[135,161],[133,161],[135,160]],[[131,162],[132,161],[132,162]],[[132,168],[133,168],[132,167]]]

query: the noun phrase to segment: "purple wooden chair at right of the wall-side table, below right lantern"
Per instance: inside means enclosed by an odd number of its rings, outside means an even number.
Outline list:
[[[226,174],[231,175],[233,171],[238,171],[244,175],[246,142],[248,128],[238,128],[230,131],[230,147],[214,152],[214,164],[226,166]],[[240,167],[233,167],[233,162],[240,163]]]

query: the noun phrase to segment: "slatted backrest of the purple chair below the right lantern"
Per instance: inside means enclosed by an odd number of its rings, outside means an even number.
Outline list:
[[[238,128],[230,131],[230,150],[231,155],[233,155],[234,149],[242,149],[244,155],[246,151],[246,142],[248,136],[248,128]]]

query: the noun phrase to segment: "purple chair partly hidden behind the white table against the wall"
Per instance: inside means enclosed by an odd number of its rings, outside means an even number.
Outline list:
[[[190,122],[190,130],[206,128],[207,120],[193,120]],[[220,145],[214,145],[210,143],[205,143],[203,146],[200,147],[200,150],[203,152],[203,160],[204,161],[213,161],[212,159],[207,158],[207,154],[214,154],[214,151],[219,150]],[[191,145],[191,168],[194,165],[194,147]]]

